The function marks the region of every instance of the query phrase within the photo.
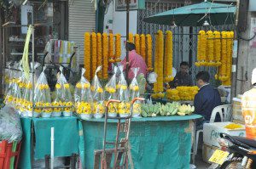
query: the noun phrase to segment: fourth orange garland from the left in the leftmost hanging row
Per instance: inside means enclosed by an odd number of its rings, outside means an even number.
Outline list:
[[[103,79],[108,79],[108,34],[102,34]],[[86,72],[86,71],[85,71]]]

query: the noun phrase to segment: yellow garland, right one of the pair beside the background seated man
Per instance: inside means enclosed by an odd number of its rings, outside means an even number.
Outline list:
[[[166,31],[165,82],[173,81],[172,76],[172,31]]]

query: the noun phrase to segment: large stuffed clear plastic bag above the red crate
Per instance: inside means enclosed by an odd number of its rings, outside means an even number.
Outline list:
[[[21,138],[20,115],[14,108],[6,105],[0,110],[0,141],[7,140],[12,143],[20,141]]]

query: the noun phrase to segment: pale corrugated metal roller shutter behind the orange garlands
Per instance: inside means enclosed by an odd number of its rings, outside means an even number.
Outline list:
[[[79,47],[79,64],[84,64],[84,32],[96,29],[96,12],[91,0],[69,1],[68,40]]]

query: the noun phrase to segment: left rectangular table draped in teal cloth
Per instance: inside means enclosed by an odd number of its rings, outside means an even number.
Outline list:
[[[51,127],[55,128],[55,157],[79,154],[79,122],[76,117],[21,118],[21,126],[20,168],[31,168],[32,156],[34,160],[40,160],[44,155],[50,155]]]

